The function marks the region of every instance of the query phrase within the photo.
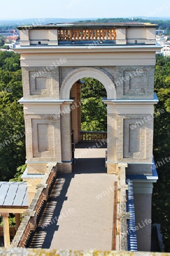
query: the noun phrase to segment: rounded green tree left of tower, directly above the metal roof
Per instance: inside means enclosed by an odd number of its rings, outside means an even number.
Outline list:
[[[0,93],[0,126],[0,174],[1,180],[9,180],[25,162],[23,107],[11,93]]]

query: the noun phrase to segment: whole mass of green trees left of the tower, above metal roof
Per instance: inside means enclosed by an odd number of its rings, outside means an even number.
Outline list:
[[[25,129],[19,55],[0,52],[0,180],[14,178],[25,163]],[[15,176],[17,178],[17,176]]]

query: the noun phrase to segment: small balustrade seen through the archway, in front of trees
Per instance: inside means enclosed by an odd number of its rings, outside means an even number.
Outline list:
[[[107,139],[107,131],[81,131],[82,142],[97,142]]]

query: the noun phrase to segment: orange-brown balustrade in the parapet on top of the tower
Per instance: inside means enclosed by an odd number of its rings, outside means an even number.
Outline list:
[[[62,29],[58,30],[58,41],[116,40],[116,29]]]

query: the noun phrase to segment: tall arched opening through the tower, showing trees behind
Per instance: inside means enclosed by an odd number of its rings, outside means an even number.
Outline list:
[[[83,163],[81,166],[84,170],[90,172],[106,172],[107,105],[102,99],[107,97],[107,92],[99,80],[85,77],[74,83],[70,95],[74,100],[71,106],[74,163],[76,162],[76,166]],[[75,169],[77,168],[74,167]]]

